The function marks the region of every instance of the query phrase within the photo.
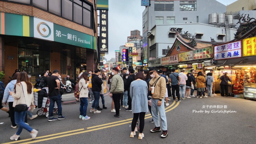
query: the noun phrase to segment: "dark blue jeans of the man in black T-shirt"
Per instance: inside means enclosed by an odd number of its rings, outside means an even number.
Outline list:
[[[58,106],[58,115],[59,115],[59,117],[61,117],[62,116],[61,96],[60,95],[54,95],[54,96],[49,97],[49,99],[50,99],[49,118],[53,118],[52,111],[53,111],[55,102]]]

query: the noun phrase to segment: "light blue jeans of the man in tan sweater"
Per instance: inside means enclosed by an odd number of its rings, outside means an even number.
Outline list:
[[[167,130],[167,120],[165,116],[165,109],[164,109],[164,101],[162,100],[161,106],[157,106],[157,102],[159,99],[151,99],[151,111],[152,117],[156,127],[160,127],[159,115],[161,118],[162,129],[164,131]],[[159,115],[158,115],[159,112]]]

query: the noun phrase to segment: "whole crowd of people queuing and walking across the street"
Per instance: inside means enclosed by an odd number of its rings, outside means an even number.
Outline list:
[[[80,115],[82,120],[88,120],[90,117],[87,115],[88,103],[92,103],[90,113],[99,114],[100,110],[107,109],[104,104],[104,81],[102,80],[101,70],[85,72],[82,68],[80,70],[79,78],[77,81],[77,88],[80,98]],[[144,118],[145,113],[150,111],[152,115],[151,123],[155,124],[154,129],[150,132],[161,132],[161,137],[165,138],[168,135],[167,120],[165,115],[164,106],[168,106],[169,97],[173,101],[180,102],[180,99],[185,100],[191,97],[212,97],[216,95],[214,92],[214,78],[212,77],[211,70],[206,77],[202,72],[198,72],[195,78],[195,71],[192,69],[187,74],[184,71],[176,73],[173,68],[171,72],[165,75],[162,70],[157,70],[156,67],[151,67],[149,70],[140,70],[134,74],[134,69],[123,68],[122,74],[119,69],[114,67],[108,78],[109,96],[112,98],[111,112],[115,113],[115,117],[120,117],[121,108],[125,111],[132,111],[133,119],[131,125],[130,137],[134,137],[139,130],[138,138],[144,137]],[[49,76],[50,75],[50,76]],[[61,76],[59,70],[54,70],[51,74],[49,70],[42,72],[38,88],[33,88],[32,83],[29,81],[28,74],[23,71],[15,71],[12,81],[8,83],[4,89],[3,83],[0,81],[0,95],[3,96],[3,103],[9,104],[9,110],[1,105],[1,109],[8,112],[12,122],[11,127],[16,128],[19,126],[17,132],[10,137],[10,140],[20,140],[20,133],[22,129],[26,129],[32,139],[35,139],[38,131],[32,129],[27,123],[27,114],[29,119],[36,118],[32,111],[35,109],[33,92],[43,91],[49,97],[49,119],[48,121],[63,120],[65,116],[62,115],[61,106],[61,87],[65,87],[61,83]],[[231,81],[225,73],[220,77],[221,79],[221,96],[224,96],[224,91],[227,96],[228,81]],[[195,84],[197,86],[195,86]],[[195,88],[197,88],[196,96],[193,95]],[[205,95],[207,89],[207,95]],[[175,92],[176,91],[176,92]],[[99,106],[99,99],[101,97],[102,108]],[[88,98],[92,101],[88,102]],[[54,118],[53,109],[54,104],[58,107],[58,118]],[[38,102],[36,102],[38,103]],[[20,105],[25,105],[25,109],[20,110]],[[162,127],[160,127],[160,120]],[[137,126],[138,124],[138,126]]]

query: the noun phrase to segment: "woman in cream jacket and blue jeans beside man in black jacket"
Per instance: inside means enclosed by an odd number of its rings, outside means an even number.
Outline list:
[[[86,110],[88,106],[88,73],[83,72],[83,74],[79,77],[77,85],[79,90],[79,98],[80,98],[80,116],[79,118],[82,120],[89,120],[90,117],[86,115]]]

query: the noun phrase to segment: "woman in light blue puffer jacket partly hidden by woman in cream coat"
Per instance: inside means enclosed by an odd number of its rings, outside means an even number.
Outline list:
[[[19,73],[15,73],[12,77],[12,81],[10,81],[10,83],[7,84],[5,90],[4,90],[4,97],[3,97],[3,102],[4,104],[6,104],[7,102],[9,103],[9,109],[10,109],[10,117],[11,117],[11,122],[12,122],[12,125],[11,127],[12,128],[16,128],[17,125],[15,124],[15,120],[14,120],[14,108],[12,107],[13,105],[13,97],[12,95],[9,95],[9,90],[11,92],[14,92],[14,86],[17,82],[17,76],[18,76]]]

